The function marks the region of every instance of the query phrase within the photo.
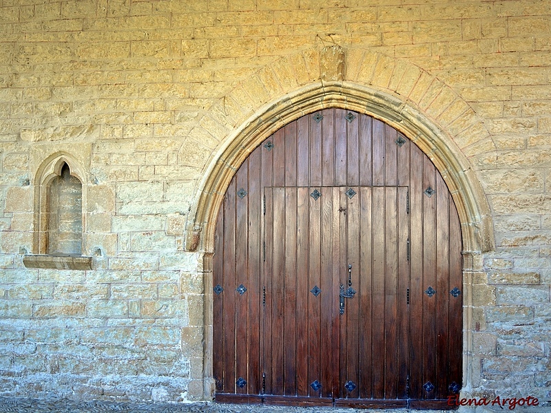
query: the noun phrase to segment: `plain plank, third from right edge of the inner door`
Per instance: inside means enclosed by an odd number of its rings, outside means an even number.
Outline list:
[[[385,230],[384,222],[384,188],[373,188],[373,224],[378,228],[373,231],[373,313],[372,317],[376,322],[371,326],[373,337],[373,352],[376,357],[372,361],[373,398],[384,399],[386,366],[386,340],[385,327]]]

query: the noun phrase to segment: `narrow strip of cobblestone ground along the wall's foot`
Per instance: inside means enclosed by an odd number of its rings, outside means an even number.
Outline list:
[[[114,403],[108,401],[77,402],[67,399],[12,399],[0,398],[0,413],[414,413],[418,410],[386,409],[357,410],[332,407],[273,407],[251,405],[229,405],[220,403]],[[427,412],[424,410],[424,412]],[[420,413],[420,412],[419,412]],[[430,413],[444,413],[431,410]]]

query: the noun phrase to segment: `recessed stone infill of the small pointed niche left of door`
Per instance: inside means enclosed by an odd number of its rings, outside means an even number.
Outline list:
[[[48,215],[48,254],[82,255],[82,183],[66,162],[50,183]]]

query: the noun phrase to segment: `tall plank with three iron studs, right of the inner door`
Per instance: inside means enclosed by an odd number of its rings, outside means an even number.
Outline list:
[[[423,187],[436,189],[435,167],[430,160],[423,160]],[[423,286],[436,289],[436,200],[437,195],[423,195]],[[436,294],[446,294],[446,291],[436,291]],[[437,381],[436,377],[436,300],[437,298],[424,295],[423,297],[423,366],[422,384]],[[435,390],[423,390],[423,399],[434,399]]]

